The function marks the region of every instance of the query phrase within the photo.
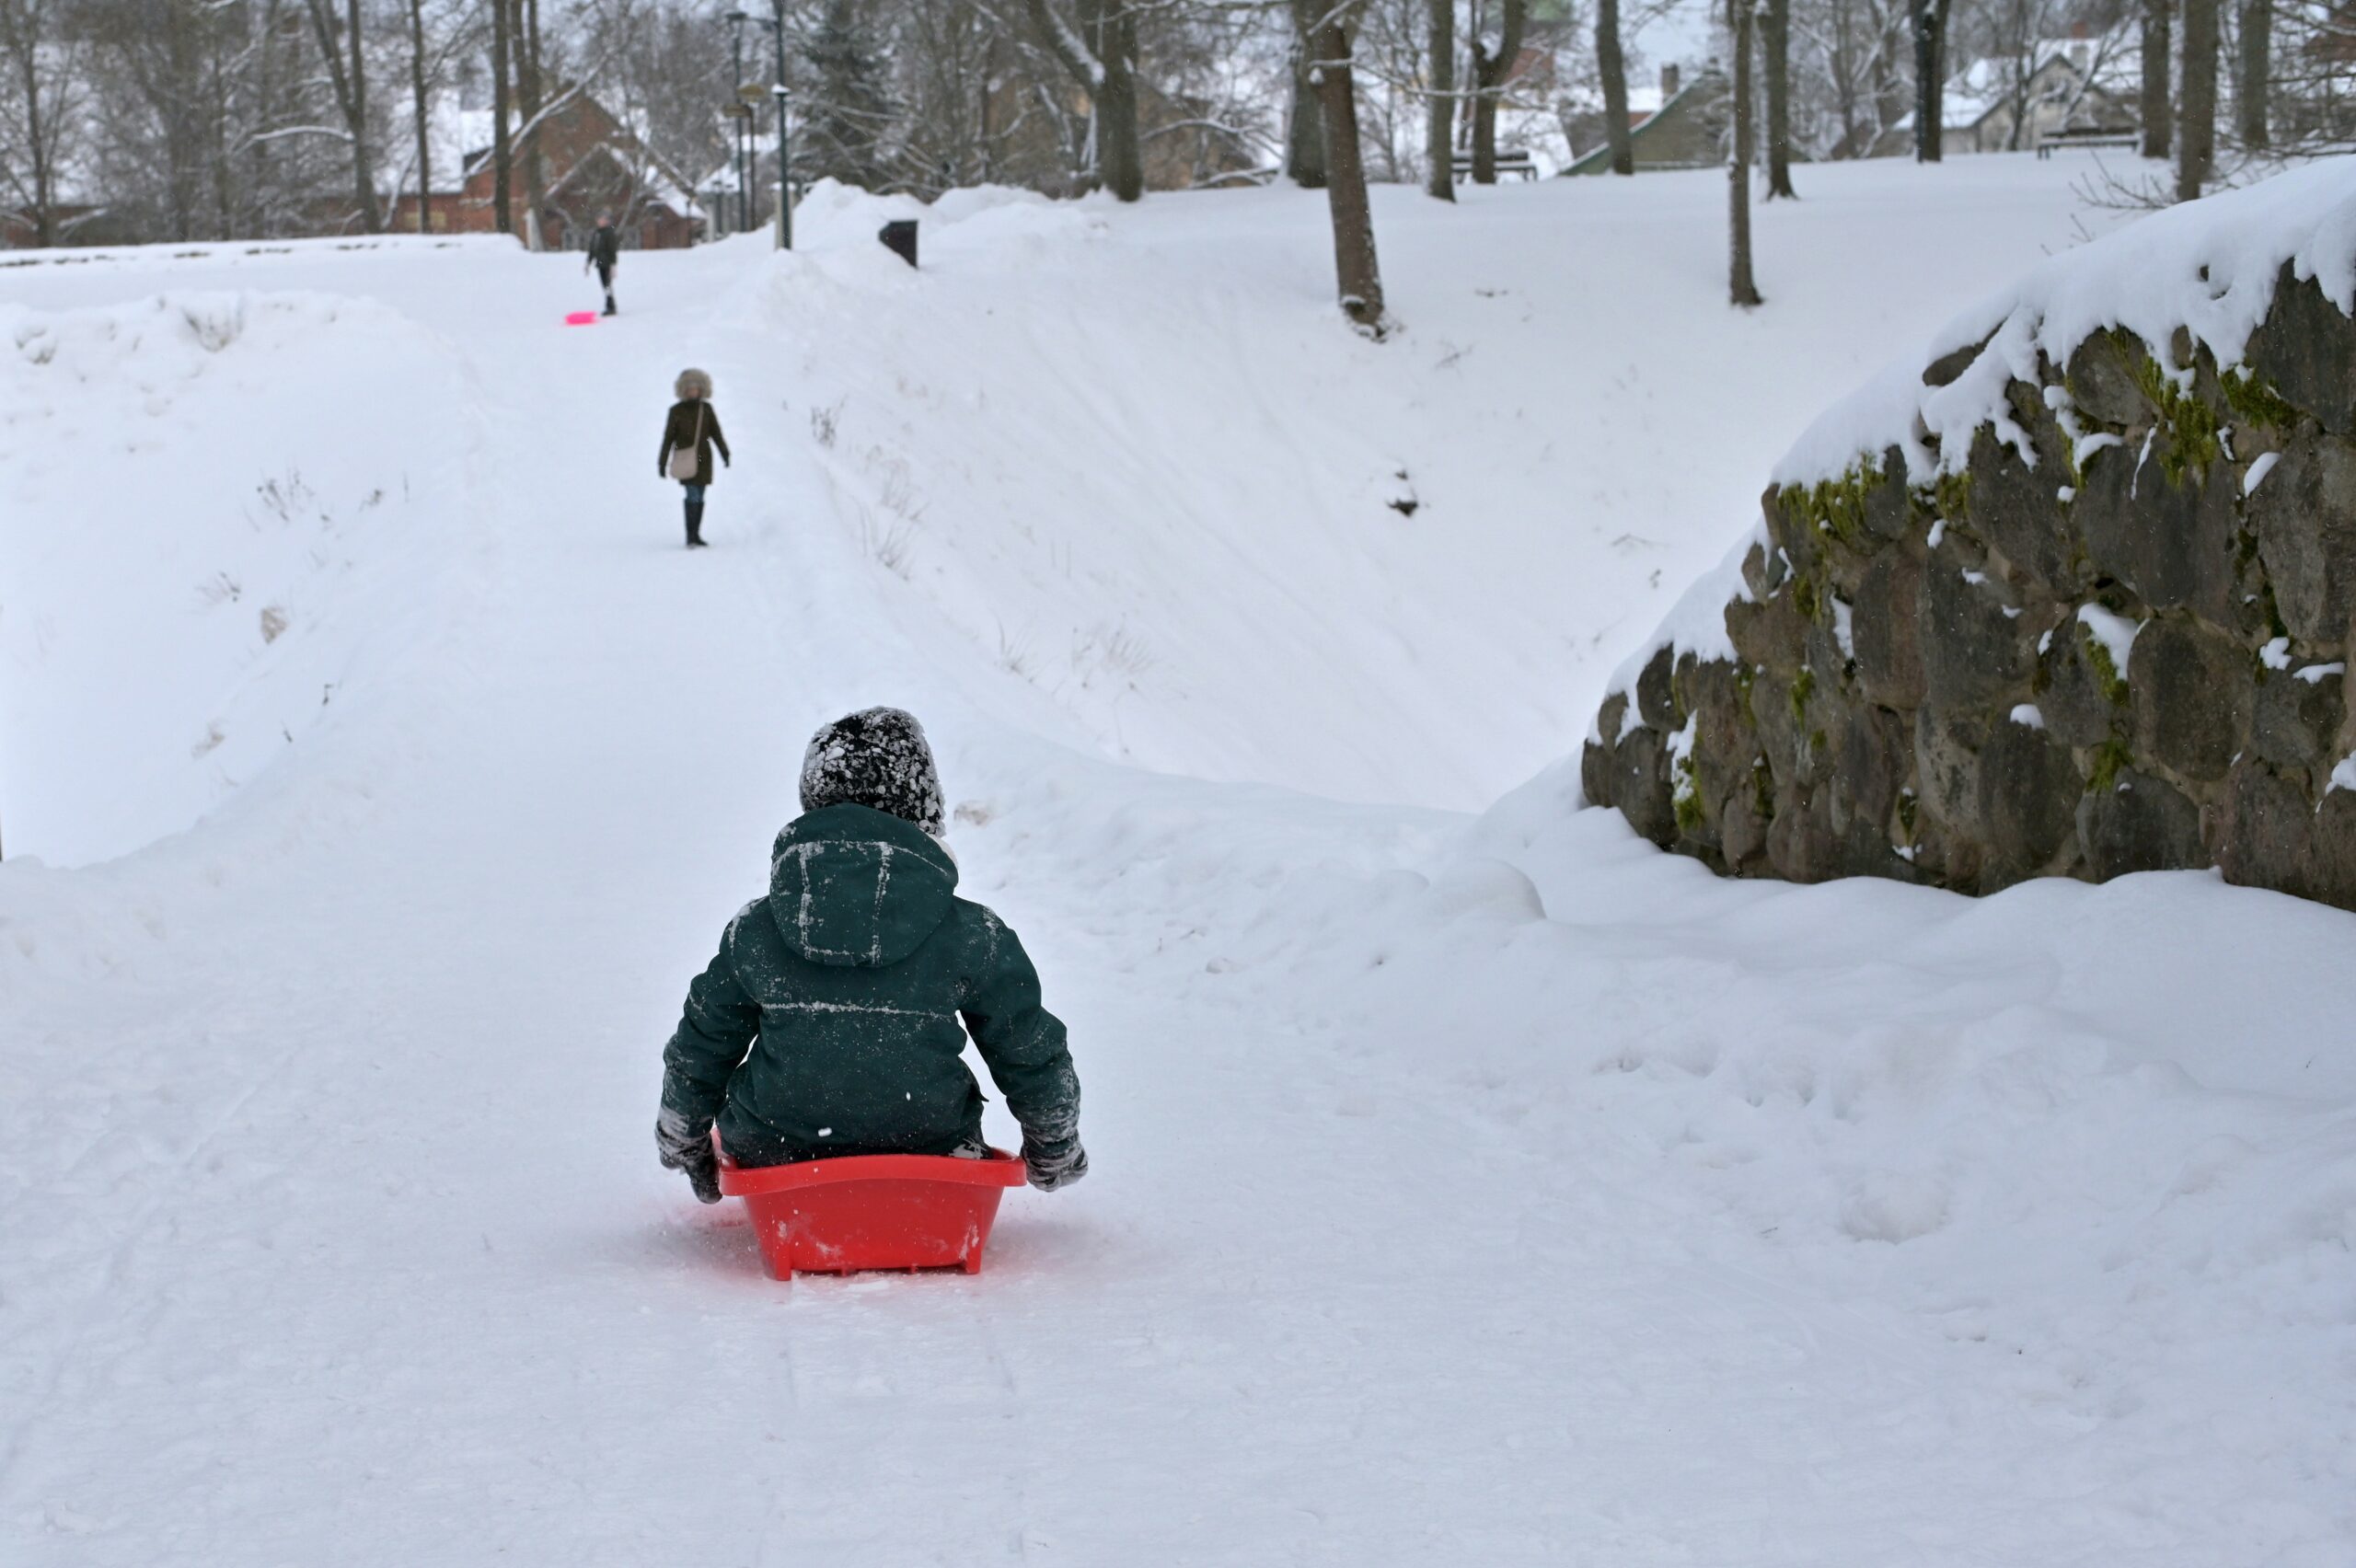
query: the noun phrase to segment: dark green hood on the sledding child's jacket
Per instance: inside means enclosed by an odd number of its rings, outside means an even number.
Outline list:
[[[785,944],[829,968],[879,970],[931,937],[957,902],[957,862],[921,826],[867,805],[806,812],[768,857]]]

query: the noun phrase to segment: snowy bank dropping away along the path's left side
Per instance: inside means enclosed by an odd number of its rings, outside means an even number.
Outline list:
[[[61,864],[188,826],[382,666],[481,438],[398,313],[252,292],[0,306],[0,803]]]

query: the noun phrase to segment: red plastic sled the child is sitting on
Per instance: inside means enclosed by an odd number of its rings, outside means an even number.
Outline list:
[[[740,1170],[721,1156],[721,1191],[744,1198],[770,1278],[853,1269],[982,1271],[999,1198],[1023,1161],[945,1154],[853,1154]]]

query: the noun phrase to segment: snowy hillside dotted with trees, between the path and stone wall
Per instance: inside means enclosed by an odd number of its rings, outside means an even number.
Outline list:
[[[921,278],[872,242],[884,202],[820,193],[808,257],[723,313],[789,344],[785,412],[832,424],[869,553],[1093,744],[1475,808],[1715,560],[1687,518],[1751,509],[1892,334],[2073,242],[2078,172],[1840,170],[1762,212],[1758,315],[1715,304],[1694,181],[1378,191],[1385,346],[1331,332],[1282,191],[952,210]]]

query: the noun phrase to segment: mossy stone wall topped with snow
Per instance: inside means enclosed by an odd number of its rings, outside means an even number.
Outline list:
[[[2222,866],[2356,909],[2351,640],[2337,158],[2050,259],[1816,419],[1581,779],[1736,876]]]

